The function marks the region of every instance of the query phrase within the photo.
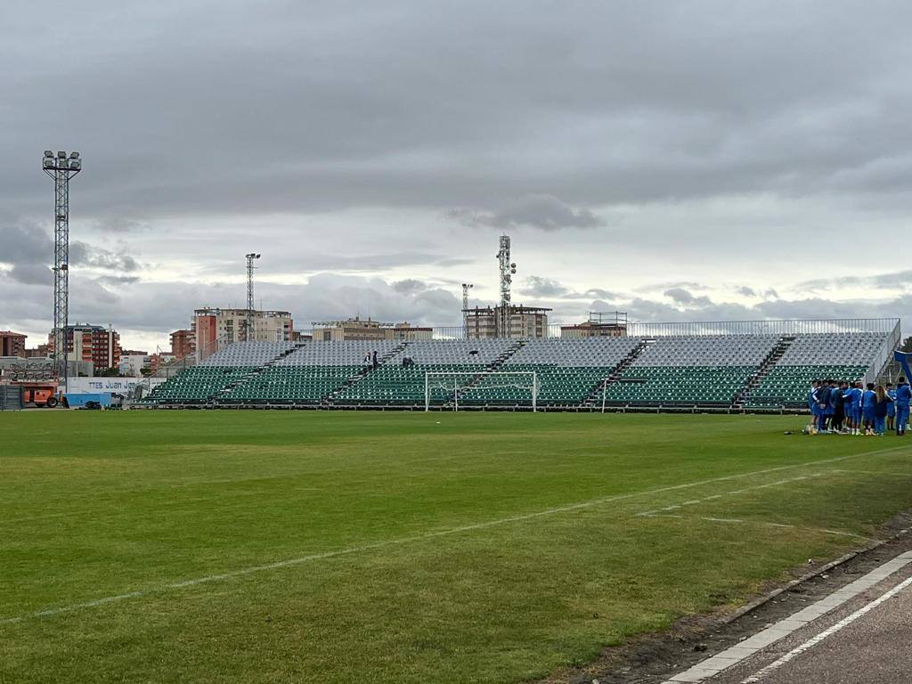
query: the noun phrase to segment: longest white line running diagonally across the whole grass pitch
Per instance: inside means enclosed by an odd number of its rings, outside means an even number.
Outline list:
[[[150,587],[148,589],[140,589],[133,591],[127,594],[119,594],[117,596],[104,596],[102,598],[95,599],[93,601],[87,601],[84,603],[72,604],[70,606],[58,606],[53,608],[46,608],[44,610],[39,610],[34,613],[28,613],[26,615],[16,616],[16,617],[0,617],[0,625],[9,625],[17,622],[22,622],[27,618],[34,617],[52,617],[61,615],[63,613],[71,613],[75,610],[81,608],[91,608],[95,606],[102,606],[109,603],[115,603],[119,601],[124,601],[130,598],[137,598],[140,596],[148,596],[150,594],[161,593],[165,591],[170,591],[174,589],[181,589],[188,586],[197,586],[206,584],[209,582],[221,582],[227,579],[232,579],[234,577],[242,577],[244,575],[253,575],[254,573],[263,572],[265,570],[275,570],[283,567],[291,567],[293,565],[302,565],[305,563],[310,563],[313,561],[324,560],[326,558],[334,558],[341,555],[348,554],[357,554],[364,551],[370,551],[373,549],[382,548],[385,546],[393,546],[399,544],[409,544],[412,542],[419,542],[426,539],[434,539],[437,537],[448,536],[451,534],[461,534],[463,532],[472,532],[474,530],[483,530],[489,527],[497,527],[503,524],[509,523],[520,523],[526,520],[534,520],[535,518],[541,518],[548,515],[554,515],[557,513],[569,513],[571,511],[580,511],[586,508],[594,508],[596,506],[602,505],[604,503],[613,503],[617,501],[623,501],[625,499],[634,499],[639,496],[648,496],[650,494],[659,494],[663,492],[676,492],[682,489],[689,489],[692,487],[700,487],[704,484],[715,484],[716,482],[729,482],[731,480],[741,480],[746,477],[753,477],[755,475],[764,475],[770,472],[782,472],[788,470],[794,470],[795,468],[806,468],[808,466],[817,466],[822,463],[836,463],[839,461],[846,461],[848,459],[855,459],[860,456],[871,456],[876,453],[885,453],[888,451],[898,451],[902,449],[907,449],[906,446],[902,447],[893,447],[891,449],[883,449],[879,451],[866,451],[863,453],[851,453],[846,454],[845,456],[836,456],[831,459],[820,459],[817,461],[804,461],[802,463],[793,463],[791,465],[781,465],[776,466],[775,468],[764,468],[759,471],[751,472],[741,472],[734,475],[722,475],[720,477],[710,478],[708,480],[699,480],[697,482],[685,482],[683,484],[671,484],[667,487],[658,487],[657,489],[647,490],[645,492],[629,492],[627,494],[617,494],[614,496],[607,496],[600,499],[591,499],[586,502],[580,503],[571,503],[565,506],[557,506],[555,508],[544,509],[544,511],[536,511],[534,513],[523,513],[520,515],[511,515],[505,518],[498,518],[496,520],[489,520],[484,523],[472,523],[467,525],[461,525],[459,527],[451,527],[445,530],[438,530],[436,532],[428,532],[424,534],[416,534],[408,537],[400,537],[399,539],[389,539],[387,541],[375,542],[373,544],[364,544],[362,546],[350,546],[345,549],[339,549],[337,551],[327,551],[321,554],[309,554],[302,555],[297,558],[289,558],[283,561],[276,561],[275,563],[268,563],[265,565],[254,565],[251,567],[240,568],[238,570],[232,570],[227,573],[222,573],[219,575],[206,575],[203,577],[196,577],[192,579],[183,580],[181,582],[173,582],[171,584]]]

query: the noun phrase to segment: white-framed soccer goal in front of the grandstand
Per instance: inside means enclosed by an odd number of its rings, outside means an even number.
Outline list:
[[[528,392],[528,394],[525,394]],[[458,411],[460,399],[468,396],[472,402],[490,399],[509,402],[528,398],[532,410],[538,409],[538,374],[534,370],[494,371],[426,371],[424,374],[424,410],[432,401],[452,402]]]

